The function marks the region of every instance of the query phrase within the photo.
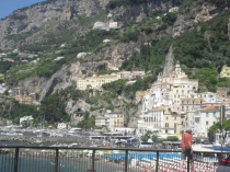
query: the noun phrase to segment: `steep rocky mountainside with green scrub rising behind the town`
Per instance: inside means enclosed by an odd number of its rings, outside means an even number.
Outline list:
[[[47,0],[0,21],[0,48],[7,53],[0,60],[2,82],[36,93],[42,105],[57,95],[65,116],[78,108],[90,115],[122,111],[129,125],[139,112],[135,93],[149,89],[170,47],[183,70],[199,79],[200,91],[229,85],[228,79],[219,79],[221,67],[230,66],[229,14],[225,0]],[[93,30],[95,22],[117,22],[117,27]],[[74,89],[79,78],[114,69],[148,74],[131,85],[119,81],[105,85],[103,93]],[[60,116],[54,118],[64,121]]]

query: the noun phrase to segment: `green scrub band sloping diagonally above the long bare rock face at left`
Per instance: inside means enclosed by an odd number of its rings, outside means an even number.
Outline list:
[[[94,53],[99,50],[100,48],[102,48],[103,46],[106,46],[106,44],[103,43],[103,39],[112,38],[116,34],[117,34],[116,31],[93,30],[93,31],[90,31],[84,36],[78,36],[76,41],[71,41],[69,44],[67,44],[67,46],[64,49],[61,49],[61,51],[57,51],[57,53],[51,51],[54,49],[53,45],[56,45],[56,44],[60,45],[61,42],[60,39],[58,41],[58,37],[54,35],[53,37],[56,37],[55,39],[50,37],[50,39],[53,39],[54,43],[49,42],[43,45],[39,45],[39,44],[24,45],[21,47],[21,50],[23,49],[24,50],[26,49],[30,51],[49,50],[50,53],[41,55],[38,65],[34,67],[31,64],[27,64],[27,65],[24,65],[24,67],[18,66],[16,68],[11,69],[8,73],[9,76],[8,82],[9,83],[16,82],[18,80],[22,80],[30,76],[39,76],[39,77],[49,78],[57,70],[59,70],[64,65],[70,64],[72,60],[74,60],[78,53],[81,53],[81,51]],[[66,34],[66,38],[68,37],[69,37],[68,34]],[[54,59],[56,59],[59,56],[62,56],[65,58],[55,61]],[[19,70],[21,71],[24,70],[24,72],[20,72],[20,73],[15,72]],[[26,72],[26,71],[30,71],[30,72]]]

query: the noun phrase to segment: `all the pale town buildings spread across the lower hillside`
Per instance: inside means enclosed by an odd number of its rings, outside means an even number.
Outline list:
[[[77,89],[97,89],[102,84],[126,80],[130,84],[136,79],[143,77],[143,71],[119,71],[112,74],[92,76],[77,81]],[[230,69],[223,66],[220,77],[230,77]],[[226,119],[230,118],[230,99],[227,89],[218,89],[214,92],[199,92],[198,80],[188,79],[181,69],[177,61],[170,71],[159,73],[158,79],[151,88],[145,92],[137,92],[136,100],[141,101],[141,113],[138,118],[133,118],[136,126],[124,127],[125,115],[119,112],[110,112],[95,116],[95,126],[105,126],[111,131],[136,131],[145,135],[147,130],[165,138],[168,136],[181,137],[183,129],[192,128],[196,137],[208,136],[208,128],[220,121],[220,107],[226,106]],[[3,94],[8,88],[4,83],[0,85]],[[27,90],[14,88],[9,90],[10,96],[15,98],[22,104],[38,104],[37,94]],[[80,113],[80,112],[79,112]],[[77,117],[78,117],[77,113]],[[81,117],[81,114],[80,116]],[[24,122],[33,121],[32,116],[24,116]],[[60,123],[58,128],[67,128],[68,124]]]

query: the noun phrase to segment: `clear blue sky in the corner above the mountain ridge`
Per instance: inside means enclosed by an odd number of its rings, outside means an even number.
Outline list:
[[[0,0],[0,19],[10,15],[14,10],[28,7],[45,0]]]

